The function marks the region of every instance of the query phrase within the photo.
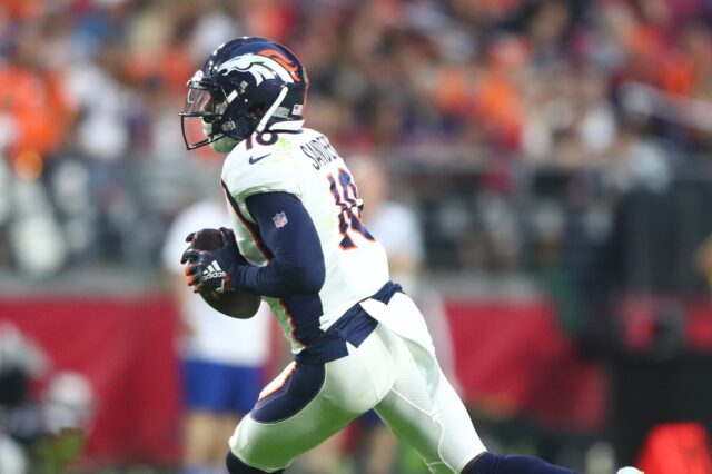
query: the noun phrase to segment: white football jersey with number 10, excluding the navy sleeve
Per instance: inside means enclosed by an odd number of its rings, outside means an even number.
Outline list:
[[[388,279],[383,246],[360,220],[362,200],[350,171],[328,139],[318,131],[298,128],[266,132],[243,140],[222,167],[233,227],[240,253],[255,266],[269,263],[269,250],[245,199],[255,194],[290,192],[308,211],[324,253],[326,279],[318,296],[263,297],[277,316],[294,353],[301,352],[348,308],[372,296]],[[289,216],[277,213],[274,225],[288,226]],[[315,322],[318,319],[318,325]]]

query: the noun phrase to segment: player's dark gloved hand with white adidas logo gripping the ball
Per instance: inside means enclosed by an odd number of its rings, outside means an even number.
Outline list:
[[[233,278],[239,265],[247,265],[240,255],[233,230],[220,228],[225,245],[215,250],[198,250],[188,247],[180,259],[185,264],[188,285],[194,287],[194,293],[225,293],[233,289]],[[186,240],[191,241],[192,235]]]

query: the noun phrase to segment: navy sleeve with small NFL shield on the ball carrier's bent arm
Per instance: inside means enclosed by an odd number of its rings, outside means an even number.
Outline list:
[[[273,258],[264,267],[238,267],[235,286],[276,297],[319,293],[326,276],[324,254],[301,201],[289,192],[263,192],[245,204]]]

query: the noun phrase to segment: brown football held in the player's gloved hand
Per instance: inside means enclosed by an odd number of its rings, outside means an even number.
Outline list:
[[[201,229],[192,236],[191,246],[196,250],[215,250],[225,246],[225,238],[218,229]],[[200,292],[200,296],[212,309],[238,319],[255,316],[261,302],[258,295],[245,289]]]

